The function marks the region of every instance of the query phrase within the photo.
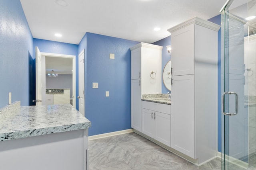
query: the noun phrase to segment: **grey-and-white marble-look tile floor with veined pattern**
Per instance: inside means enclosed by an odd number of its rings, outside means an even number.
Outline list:
[[[199,167],[136,133],[90,140],[88,148],[90,170],[221,170],[220,158]]]

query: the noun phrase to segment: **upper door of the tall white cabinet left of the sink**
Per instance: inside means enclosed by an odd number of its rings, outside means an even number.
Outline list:
[[[141,48],[131,51],[131,79],[141,78]]]

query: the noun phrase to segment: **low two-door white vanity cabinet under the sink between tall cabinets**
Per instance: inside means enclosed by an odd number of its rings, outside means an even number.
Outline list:
[[[171,146],[171,106],[142,101],[142,133]]]

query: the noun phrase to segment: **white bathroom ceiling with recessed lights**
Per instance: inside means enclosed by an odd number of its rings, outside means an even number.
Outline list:
[[[20,0],[34,38],[79,44],[86,32],[153,43],[194,16],[217,16],[226,0]],[[160,31],[154,31],[160,27]],[[54,33],[62,33],[55,37]]]

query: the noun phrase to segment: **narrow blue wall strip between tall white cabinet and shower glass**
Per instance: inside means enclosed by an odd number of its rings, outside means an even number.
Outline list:
[[[208,21],[221,25],[221,15]],[[221,28],[218,31],[218,151],[221,152]]]

